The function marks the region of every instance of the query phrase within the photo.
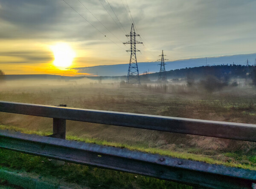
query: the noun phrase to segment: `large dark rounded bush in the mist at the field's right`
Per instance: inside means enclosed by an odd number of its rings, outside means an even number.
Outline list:
[[[213,92],[215,90],[220,90],[222,87],[224,87],[226,82],[223,82],[216,78],[215,76],[208,75],[205,79],[202,79],[200,81],[200,85],[204,87],[209,92]]]

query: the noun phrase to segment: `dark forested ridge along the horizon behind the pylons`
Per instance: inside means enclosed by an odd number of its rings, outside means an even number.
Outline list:
[[[254,79],[256,73],[256,66],[254,65],[213,65],[213,66],[200,66],[193,68],[181,68],[176,70],[166,71],[167,79],[180,79],[186,78],[188,75],[195,77],[195,79],[204,78],[207,75],[212,75],[221,79],[223,77],[231,78],[251,78]],[[158,77],[159,72],[149,73],[145,71],[140,73],[142,80],[155,80]],[[58,76],[49,74],[20,74],[20,75],[8,75],[4,76],[4,79],[126,79],[126,76]]]

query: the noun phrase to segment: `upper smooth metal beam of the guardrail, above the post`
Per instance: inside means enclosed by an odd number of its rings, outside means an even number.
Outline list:
[[[256,142],[256,125],[0,101],[0,112]]]

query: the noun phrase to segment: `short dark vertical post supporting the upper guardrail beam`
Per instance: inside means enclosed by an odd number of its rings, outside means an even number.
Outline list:
[[[67,107],[67,104],[60,104]],[[51,137],[66,139],[66,119],[53,118],[53,134]]]

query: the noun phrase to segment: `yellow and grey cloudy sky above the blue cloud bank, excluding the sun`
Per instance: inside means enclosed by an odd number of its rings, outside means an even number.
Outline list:
[[[127,64],[122,42],[132,22],[144,43],[137,62],[154,62],[162,50],[169,60],[252,54],[255,10],[256,0],[0,0],[0,69],[90,76],[72,68]],[[58,44],[75,53],[68,68],[54,65]]]

